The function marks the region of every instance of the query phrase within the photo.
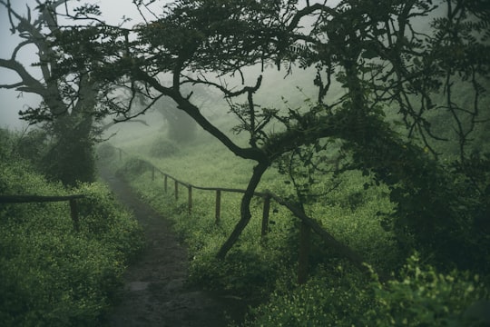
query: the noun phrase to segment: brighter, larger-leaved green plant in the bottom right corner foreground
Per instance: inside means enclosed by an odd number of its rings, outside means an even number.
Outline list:
[[[373,288],[377,306],[366,317],[377,326],[482,326],[465,312],[489,296],[478,275],[440,273],[419,263],[417,256],[408,259],[397,280]]]

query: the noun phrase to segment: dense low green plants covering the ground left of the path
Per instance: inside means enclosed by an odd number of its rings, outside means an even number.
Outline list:
[[[80,231],[64,203],[0,205],[0,321],[3,326],[94,326],[115,300],[122,272],[143,246],[141,229],[101,183],[65,189],[15,155],[2,130],[0,193],[85,194]]]

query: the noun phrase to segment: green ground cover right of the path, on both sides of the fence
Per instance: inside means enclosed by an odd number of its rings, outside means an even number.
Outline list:
[[[233,167],[232,157],[212,144],[194,146],[162,161],[144,156],[138,144],[126,144],[124,149],[127,159],[131,160],[131,153],[138,154],[139,160],[151,160],[175,177],[190,177],[195,185],[227,183],[229,175],[216,172]],[[201,163],[199,173],[192,168],[195,162]],[[234,186],[245,185],[236,173],[230,175]],[[276,172],[260,186],[284,183],[282,177]],[[362,253],[367,262],[391,276],[379,282],[374,272],[371,276],[362,274],[314,238],[309,282],[302,286],[296,280],[299,222],[284,208],[272,205],[277,211],[272,213],[274,224],[270,234],[260,239],[261,203],[252,205],[250,225],[223,262],[216,260],[214,253],[240,214],[238,196],[224,196],[230,200],[223,201],[222,218],[216,225],[213,193],[193,193],[194,207],[189,214],[185,193],[179,201],[175,201],[171,188],[164,193],[158,173],[156,180],[149,182],[151,168],[133,174],[130,180],[146,201],[171,217],[174,228],[190,246],[190,282],[254,304],[244,326],[481,325],[478,319],[485,313],[472,315],[471,308],[479,303],[486,307],[487,278],[471,272],[438,272],[434,266],[421,263],[417,255],[405,262],[402,253],[397,253],[394,234],[383,228],[383,217],[372,219],[383,207],[392,208],[387,189],[380,185],[364,190],[359,182],[365,178],[361,173],[348,173],[337,188],[307,210],[342,242]]]

